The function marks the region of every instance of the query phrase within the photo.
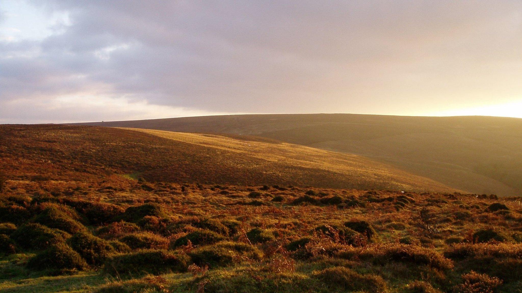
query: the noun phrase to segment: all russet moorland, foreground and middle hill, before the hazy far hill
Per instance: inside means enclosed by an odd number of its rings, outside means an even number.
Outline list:
[[[522,290],[518,197],[267,138],[0,135],[0,292]]]

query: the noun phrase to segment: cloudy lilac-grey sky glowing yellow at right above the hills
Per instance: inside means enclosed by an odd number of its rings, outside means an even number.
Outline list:
[[[522,1],[0,1],[0,124],[522,118]]]

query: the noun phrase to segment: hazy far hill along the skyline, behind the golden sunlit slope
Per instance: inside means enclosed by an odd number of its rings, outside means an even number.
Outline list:
[[[260,136],[371,157],[468,192],[522,195],[522,119],[518,118],[281,114],[90,125]]]

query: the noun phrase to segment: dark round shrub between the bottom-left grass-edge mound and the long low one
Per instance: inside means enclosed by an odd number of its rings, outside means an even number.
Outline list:
[[[69,246],[78,252],[88,264],[100,265],[115,252],[109,241],[93,236],[87,232],[80,232],[68,240]]]

